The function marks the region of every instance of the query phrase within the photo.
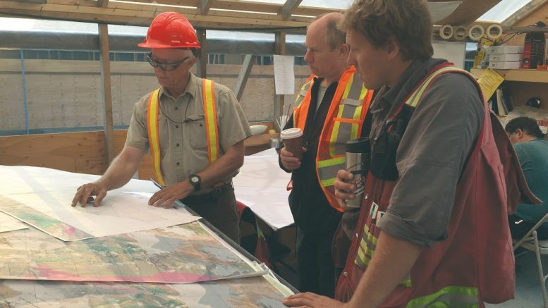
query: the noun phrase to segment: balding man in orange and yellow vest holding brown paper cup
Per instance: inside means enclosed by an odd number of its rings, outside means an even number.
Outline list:
[[[334,197],[336,171],[344,168],[345,143],[369,133],[365,123],[372,91],[346,64],[348,45],[337,29],[340,13],[320,16],[308,27],[305,44],[312,75],[296,98],[285,128],[303,130],[303,159],[285,148],[280,164],[292,173],[289,204],[297,225],[299,290],[333,296],[336,271],[331,240],[342,211]]]

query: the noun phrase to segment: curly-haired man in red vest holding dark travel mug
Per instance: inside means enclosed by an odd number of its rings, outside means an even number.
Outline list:
[[[424,0],[355,0],[341,27],[348,63],[366,87],[379,88],[370,172],[336,300],[305,293],[284,304],[483,307],[511,299],[506,215],[528,189],[479,85],[432,58]],[[339,171],[337,197],[354,197],[351,178]]]

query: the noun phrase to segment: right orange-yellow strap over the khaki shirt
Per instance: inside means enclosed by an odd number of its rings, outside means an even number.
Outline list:
[[[217,128],[217,109],[213,82],[202,79],[202,100],[204,102],[205,132],[207,137],[207,156],[209,164],[219,159],[219,131]]]

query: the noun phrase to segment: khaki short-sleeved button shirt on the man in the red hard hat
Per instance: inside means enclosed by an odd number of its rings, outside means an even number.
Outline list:
[[[147,109],[149,93],[142,97],[133,109],[126,145],[143,152],[149,149]],[[219,157],[225,150],[251,135],[245,114],[228,87],[214,82],[217,125],[219,130]],[[161,166],[167,185],[187,180],[209,165],[205,131],[204,105],[202,102],[202,78],[190,73],[185,92],[172,97],[164,87],[159,93],[158,132]],[[229,183],[236,175],[223,179]],[[202,187],[200,194],[212,191]]]

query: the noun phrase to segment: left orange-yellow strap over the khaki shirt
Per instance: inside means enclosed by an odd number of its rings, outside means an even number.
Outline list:
[[[154,174],[158,183],[162,186],[166,185],[164,175],[162,175],[162,169],[160,167],[160,141],[158,136],[158,106],[160,89],[152,92],[148,99],[147,106],[147,128],[148,128],[148,143],[150,147],[150,154],[152,155],[152,165],[154,165]]]

